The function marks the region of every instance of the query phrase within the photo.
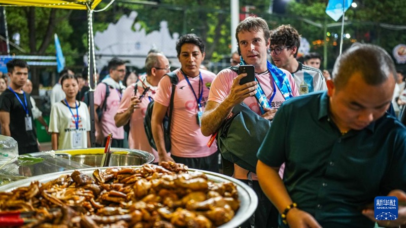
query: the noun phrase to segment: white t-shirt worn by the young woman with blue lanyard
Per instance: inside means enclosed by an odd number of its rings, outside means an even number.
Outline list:
[[[69,107],[62,101],[52,105],[49,117],[49,132],[59,133],[58,149],[87,148],[87,132],[90,131],[90,114],[86,103],[76,101],[78,104],[79,124],[76,129],[76,107]],[[81,137],[81,138],[80,138]]]

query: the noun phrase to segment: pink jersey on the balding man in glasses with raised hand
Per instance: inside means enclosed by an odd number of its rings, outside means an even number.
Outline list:
[[[134,96],[134,87],[137,85],[137,96],[140,97],[144,92],[146,87],[149,87],[147,94],[141,100],[140,108],[135,109],[130,117],[130,132],[128,135],[128,146],[130,149],[140,149],[147,151],[155,156],[155,161],[158,162],[158,152],[152,148],[147,139],[144,129],[144,117],[145,110],[148,107],[148,104],[155,97],[156,86],[152,86],[146,80],[146,76],[140,77],[140,80],[137,83],[134,83],[125,89],[123,97],[121,98],[120,107],[117,110],[117,113],[123,113],[128,109],[128,106],[131,102],[131,97]]]

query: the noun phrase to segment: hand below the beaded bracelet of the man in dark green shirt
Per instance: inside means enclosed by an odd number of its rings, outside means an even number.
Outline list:
[[[290,209],[286,218],[290,228],[322,228],[311,214],[297,208]]]

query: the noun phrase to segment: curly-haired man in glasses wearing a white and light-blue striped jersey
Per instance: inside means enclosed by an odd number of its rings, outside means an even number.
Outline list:
[[[300,94],[326,90],[323,73],[296,60],[300,35],[290,25],[281,25],[270,31],[270,56],[275,65],[289,71],[295,79]]]

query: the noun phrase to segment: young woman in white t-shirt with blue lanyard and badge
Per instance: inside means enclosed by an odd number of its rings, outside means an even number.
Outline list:
[[[90,115],[86,103],[76,100],[78,84],[75,75],[62,75],[66,98],[52,105],[49,121],[53,150],[90,147]]]

